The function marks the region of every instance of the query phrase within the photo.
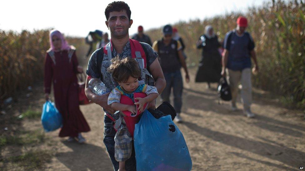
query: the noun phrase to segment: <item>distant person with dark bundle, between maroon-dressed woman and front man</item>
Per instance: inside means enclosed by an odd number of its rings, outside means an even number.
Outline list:
[[[90,55],[90,52],[93,48],[93,44],[96,43],[96,49],[99,49],[102,47],[102,39],[103,39],[103,31],[100,30],[95,30],[95,31],[90,31],[88,36],[85,38],[86,43],[90,46],[88,49],[88,52],[85,56],[85,59],[88,58]]]

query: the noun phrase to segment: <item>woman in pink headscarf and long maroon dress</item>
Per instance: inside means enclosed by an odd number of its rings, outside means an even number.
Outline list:
[[[51,48],[47,50],[44,69],[45,98],[49,99],[53,80],[55,104],[63,116],[59,136],[69,136],[69,142],[78,140],[79,143],[84,143],[85,138],[81,132],[88,132],[90,128],[79,109],[76,77],[77,73],[83,72],[83,68],[78,65],[74,46],[68,45],[58,30],[52,30],[49,38]]]

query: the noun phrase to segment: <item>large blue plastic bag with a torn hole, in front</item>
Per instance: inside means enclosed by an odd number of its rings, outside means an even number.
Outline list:
[[[179,128],[170,115],[156,119],[143,112],[134,130],[137,170],[189,171],[192,159]]]

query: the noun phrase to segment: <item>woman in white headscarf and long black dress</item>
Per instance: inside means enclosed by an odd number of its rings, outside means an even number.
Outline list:
[[[195,79],[195,82],[207,82],[207,88],[211,87],[210,83],[219,82],[221,77],[220,46],[213,27],[207,25],[205,33],[197,41],[197,48],[202,49],[202,58]]]

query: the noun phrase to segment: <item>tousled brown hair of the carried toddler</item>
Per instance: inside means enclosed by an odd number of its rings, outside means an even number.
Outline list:
[[[112,73],[115,82],[126,83],[129,76],[133,78],[141,77],[141,69],[138,62],[130,57],[120,59],[116,56],[112,60],[112,64],[108,68],[108,72]]]

